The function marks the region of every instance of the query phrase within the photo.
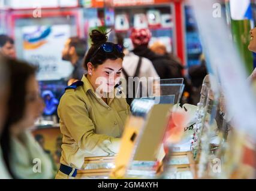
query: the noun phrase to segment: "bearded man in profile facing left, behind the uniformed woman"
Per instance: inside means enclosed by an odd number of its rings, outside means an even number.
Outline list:
[[[81,80],[87,71],[83,67],[83,57],[86,53],[87,41],[79,37],[71,37],[65,42],[64,49],[62,50],[62,60],[70,61],[74,66],[71,79],[68,85]]]

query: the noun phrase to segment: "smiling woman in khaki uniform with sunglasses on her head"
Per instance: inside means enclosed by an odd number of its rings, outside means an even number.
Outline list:
[[[85,157],[116,155],[129,106],[118,91],[124,58],[122,45],[107,42],[107,34],[90,33],[85,57],[88,74],[66,88],[58,107],[62,140],[61,167],[56,178],[76,177]]]

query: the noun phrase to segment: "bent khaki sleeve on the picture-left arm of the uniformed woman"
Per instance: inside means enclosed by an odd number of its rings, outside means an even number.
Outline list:
[[[88,116],[85,102],[74,93],[65,93],[58,107],[58,114],[80,149],[95,156],[118,153],[121,139],[95,134],[95,127]]]

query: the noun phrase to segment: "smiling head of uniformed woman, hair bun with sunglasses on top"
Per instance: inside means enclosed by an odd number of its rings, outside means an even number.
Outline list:
[[[107,42],[107,34],[98,30],[92,30],[90,37],[92,46],[86,54],[84,67],[94,89],[101,86],[103,92],[110,92],[121,78],[123,47]]]

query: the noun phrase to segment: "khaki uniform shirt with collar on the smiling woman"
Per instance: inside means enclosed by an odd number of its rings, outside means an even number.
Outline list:
[[[83,85],[67,89],[62,96],[58,115],[62,140],[61,164],[82,168],[85,157],[115,155],[119,150],[129,106],[122,98],[97,97],[84,75]],[[115,89],[115,93],[116,93]]]

